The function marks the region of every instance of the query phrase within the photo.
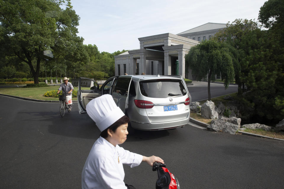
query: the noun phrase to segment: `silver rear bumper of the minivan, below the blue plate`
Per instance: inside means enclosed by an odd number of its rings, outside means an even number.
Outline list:
[[[131,121],[131,127],[134,129],[142,130],[142,131],[155,131],[155,130],[164,130],[164,129],[172,129],[182,127],[188,124],[190,117],[190,112],[186,119],[178,120],[178,121],[168,121],[168,122],[159,122],[159,123],[139,123]]]

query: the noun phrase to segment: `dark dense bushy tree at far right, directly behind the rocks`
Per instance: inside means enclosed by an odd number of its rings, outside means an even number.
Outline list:
[[[258,120],[282,120],[284,59],[279,43],[270,32],[254,30],[243,38],[240,48],[246,50],[242,69],[247,71],[242,72],[241,80],[245,83],[247,92],[242,97],[245,106],[254,108],[250,117]]]

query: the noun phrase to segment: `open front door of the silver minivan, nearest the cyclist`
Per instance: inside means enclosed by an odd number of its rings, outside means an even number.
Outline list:
[[[78,109],[79,113],[87,113],[86,105],[100,96],[99,84],[93,79],[79,77],[78,83]]]

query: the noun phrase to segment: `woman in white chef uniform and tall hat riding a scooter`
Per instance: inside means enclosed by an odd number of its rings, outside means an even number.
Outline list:
[[[145,157],[118,146],[125,142],[129,118],[115,104],[109,94],[91,100],[86,110],[101,131],[93,144],[82,171],[82,188],[131,189],[123,182],[123,164],[131,168],[141,162],[153,165],[164,161],[156,156]]]

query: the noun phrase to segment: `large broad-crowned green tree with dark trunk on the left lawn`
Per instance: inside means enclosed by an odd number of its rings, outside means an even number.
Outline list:
[[[65,7],[65,9],[61,8]],[[43,55],[51,50],[57,62],[84,61],[83,38],[77,36],[79,17],[70,0],[7,0],[0,2],[0,48],[5,56],[16,56],[29,65],[38,83]],[[55,60],[48,61],[52,63]]]

